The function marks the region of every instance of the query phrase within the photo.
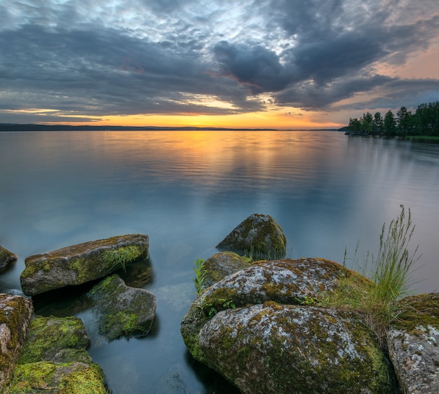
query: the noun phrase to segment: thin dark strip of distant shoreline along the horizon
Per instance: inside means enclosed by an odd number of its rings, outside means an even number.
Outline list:
[[[276,128],[218,128],[218,127],[196,127],[196,126],[114,126],[114,125],[43,125],[43,124],[20,124],[20,123],[0,123],[1,131],[299,131],[304,129],[280,130]],[[320,128],[320,129],[306,129],[306,131],[343,131],[336,128]]]

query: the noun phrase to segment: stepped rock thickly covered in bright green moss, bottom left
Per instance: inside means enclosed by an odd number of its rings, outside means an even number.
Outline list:
[[[36,317],[6,393],[108,393],[79,318]]]

